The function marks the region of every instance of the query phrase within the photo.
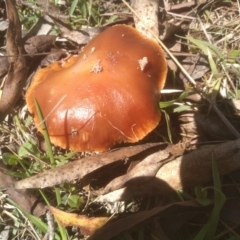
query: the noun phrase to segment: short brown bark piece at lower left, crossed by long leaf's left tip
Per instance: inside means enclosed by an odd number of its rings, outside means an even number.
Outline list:
[[[4,170],[3,164],[0,164],[0,188],[13,184],[15,181],[11,176],[5,174],[5,171],[7,170]],[[11,200],[27,213],[39,217],[46,212],[45,205],[38,202],[38,199],[32,196],[27,190],[12,188],[5,191],[4,194],[7,194]]]

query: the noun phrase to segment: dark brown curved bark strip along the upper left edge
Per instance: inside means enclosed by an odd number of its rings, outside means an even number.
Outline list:
[[[9,27],[7,30],[7,54],[10,67],[4,82],[0,101],[0,120],[11,111],[22,93],[26,81],[27,66],[22,44],[21,24],[12,0],[5,1]]]

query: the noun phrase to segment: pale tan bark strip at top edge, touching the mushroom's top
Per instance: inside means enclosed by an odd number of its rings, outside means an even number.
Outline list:
[[[158,29],[158,9],[159,1],[158,0],[132,0],[131,6],[136,11],[141,20],[137,16],[133,16],[136,29],[141,32],[147,38],[150,38],[154,41],[156,39],[154,36],[159,36]],[[145,26],[154,33],[152,35],[151,31],[148,30]]]

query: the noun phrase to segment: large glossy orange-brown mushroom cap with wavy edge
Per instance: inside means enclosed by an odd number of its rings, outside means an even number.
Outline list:
[[[39,70],[26,93],[41,132],[39,103],[51,142],[74,151],[134,143],[159,123],[167,74],[161,47],[127,25],[108,28],[77,56]]]

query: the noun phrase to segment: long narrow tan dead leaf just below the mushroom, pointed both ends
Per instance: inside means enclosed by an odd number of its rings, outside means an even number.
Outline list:
[[[130,157],[161,144],[162,143],[148,143],[132,147],[124,147],[112,150],[111,152],[86,157],[37,174],[33,177],[20,180],[16,182],[14,186],[8,187],[14,187],[17,189],[45,188],[70,182],[75,179],[81,179],[87,174],[106,165],[117,161],[128,161]]]

